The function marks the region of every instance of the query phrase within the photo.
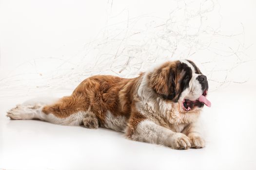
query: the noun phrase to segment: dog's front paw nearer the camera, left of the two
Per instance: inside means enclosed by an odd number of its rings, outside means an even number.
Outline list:
[[[189,149],[191,147],[191,141],[188,136],[182,133],[175,133],[172,135],[171,147],[173,149]]]

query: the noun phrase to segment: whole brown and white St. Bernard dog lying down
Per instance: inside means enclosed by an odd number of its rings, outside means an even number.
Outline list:
[[[21,104],[11,119],[40,119],[60,125],[105,127],[132,140],[174,149],[203,148],[195,122],[206,99],[208,82],[189,60],[165,62],[132,79],[96,75],[51,104]]]

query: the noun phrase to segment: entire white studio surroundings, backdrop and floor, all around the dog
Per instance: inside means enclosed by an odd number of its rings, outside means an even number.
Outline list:
[[[0,169],[254,170],[255,9],[255,0],[0,0]],[[69,95],[88,76],[134,77],[180,58],[208,76],[205,149],[4,117],[31,97]]]

